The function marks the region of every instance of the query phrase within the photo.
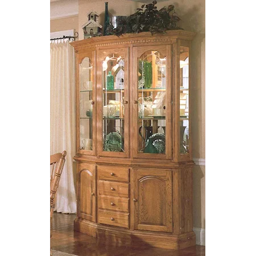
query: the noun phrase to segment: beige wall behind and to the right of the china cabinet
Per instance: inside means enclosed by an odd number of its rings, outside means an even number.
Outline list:
[[[109,13],[112,15],[129,16],[135,13],[143,2],[127,0],[108,0]],[[157,3],[158,10],[164,6],[173,4],[177,15],[181,18],[179,26],[185,30],[197,32],[192,43],[191,65],[194,67],[191,72],[192,84],[190,85],[193,111],[192,123],[192,150],[193,158],[206,158],[206,2],[205,0],[180,0],[165,1]],[[51,21],[51,31],[69,30],[75,28],[79,32],[79,40],[83,39],[82,25],[88,21],[87,14],[94,10],[99,14],[99,23],[104,24],[105,0],[79,0],[79,15],[77,17],[58,19]],[[205,189],[205,166],[195,166],[193,170],[193,226],[205,228],[206,216],[206,189]]]

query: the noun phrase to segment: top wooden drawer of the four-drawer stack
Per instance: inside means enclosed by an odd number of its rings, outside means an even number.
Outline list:
[[[97,166],[98,179],[129,182],[129,168]]]

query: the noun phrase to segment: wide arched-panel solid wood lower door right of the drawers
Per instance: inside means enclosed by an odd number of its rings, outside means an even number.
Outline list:
[[[172,232],[172,171],[133,170],[134,229]]]

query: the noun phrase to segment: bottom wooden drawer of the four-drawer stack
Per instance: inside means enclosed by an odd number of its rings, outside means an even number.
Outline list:
[[[129,228],[129,213],[98,210],[98,222],[102,224]]]

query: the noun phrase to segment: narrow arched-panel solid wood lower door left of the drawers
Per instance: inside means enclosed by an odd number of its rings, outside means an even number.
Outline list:
[[[96,222],[96,167],[79,163],[77,169],[77,216]]]

